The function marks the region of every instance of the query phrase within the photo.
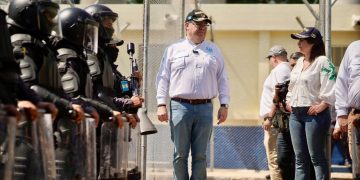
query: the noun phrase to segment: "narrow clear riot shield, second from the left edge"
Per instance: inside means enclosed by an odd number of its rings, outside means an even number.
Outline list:
[[[39,152],[42,160],[42,169],[45,179],[56,179],[55,148],[53,136],[53,123],[51,114],[40,114],[37,121],[37,135],[39,139]]]

